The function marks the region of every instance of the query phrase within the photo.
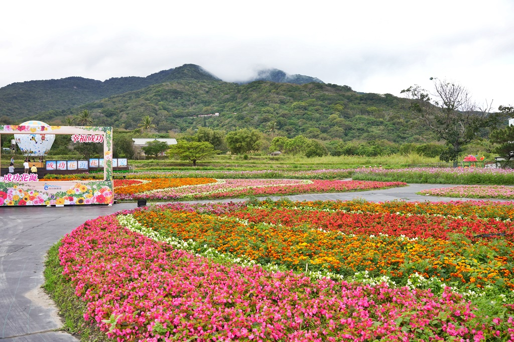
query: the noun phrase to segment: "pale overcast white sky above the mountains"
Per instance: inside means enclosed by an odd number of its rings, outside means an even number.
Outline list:
[[[5,2],[0,87],[35,79],[147,76],[197,64],[224,81],[277,68],[356,91],[430,77],[475,102],[514,105],[514,1]]]

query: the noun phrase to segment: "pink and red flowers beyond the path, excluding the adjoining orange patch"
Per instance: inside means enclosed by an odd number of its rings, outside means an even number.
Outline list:
[[[368,182],[363,180],[295,180],[295,179],[227,179],[205,185],[195,185],[137,194],[116,194],[120,200],[214,199],[301,193],[347,192],[405,186],[402,182]]]

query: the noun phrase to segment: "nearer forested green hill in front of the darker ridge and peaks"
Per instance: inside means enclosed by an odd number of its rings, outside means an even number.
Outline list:
[[[391,94],[359,94],[348,86],[309,83],[252,82],[238,85],[192,79],[166,82],[110,96],[65,111],[48,111],[34,119],[64,122],[87,109],[95,125],[127,130],[150,116],[158,132],[183,132],[198,127],[231,131],[255,128],[274,135],[303,134],[322,140],[433,140],[413,128],[407,100]],[[218,115],[216,115],[218,113]]]

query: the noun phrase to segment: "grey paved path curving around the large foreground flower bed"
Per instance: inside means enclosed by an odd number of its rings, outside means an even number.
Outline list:
[[[404,188],[348,193],[286,196],[291,200],[348,200],[370,202],[389,200],[438,201],[447,197],[427,197],[415,193],[449,185],[414,184]],[[280,197],[271,197],[278,199]],[[216,202],[238,202],[225,199]],[[211,201],[196,201],[211,202]],[[58,331],[61,320],[52,301],[41,290],[44,258],[48,249],[64,234],[88,219],[120,210],[133,209],[135,203],[107,206],[2,207],[0,208],[0,340],[9,342],[78,341]]]

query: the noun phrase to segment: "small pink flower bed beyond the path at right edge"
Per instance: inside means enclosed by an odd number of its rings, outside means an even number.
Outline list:
[[[423,190],[420,194],[446,197],[514,199],[514,187],[500,185],[463,185],[451,188]]]

